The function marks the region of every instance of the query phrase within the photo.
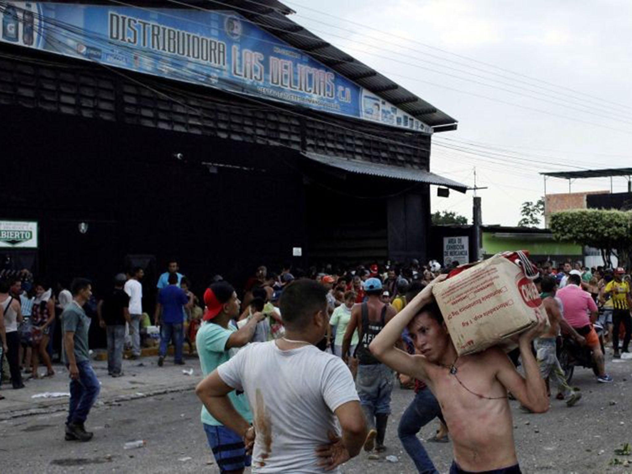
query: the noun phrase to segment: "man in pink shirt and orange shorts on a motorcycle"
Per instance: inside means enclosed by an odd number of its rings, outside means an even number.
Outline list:
[[[604,353],[601,351],[599,336],[592,325],[597,320],[599,310],[590,293],[581,289],[580,284],[581,277],[571,273],[568,276],[568,284],[559,289],[556,296],[564,305],[564,319],[586,339],[586,346],[592,350],[593,361],[599,372],[597,382],[607,384],[612,382],[612,377],[605,373]]]

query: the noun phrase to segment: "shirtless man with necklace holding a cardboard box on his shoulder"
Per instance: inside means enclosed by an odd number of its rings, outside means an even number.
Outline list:
[[[451,474],[520,473],[507,392],[535,413],[549,409],[549,398],[531,344],[544,318],[523,332],[520,347],[526,379],[497,347],[458,357],[432,296],[438,277],[382,329],[370,345],[374,355],[401,374],[423,380],[435,394],[454,443]],[[408,327],[416,355],[395,347]]]

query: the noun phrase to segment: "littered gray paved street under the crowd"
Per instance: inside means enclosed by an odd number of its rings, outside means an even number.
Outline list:
[[[125,398],[123,389],[113,391],[107,386],[128,384],[138,392],[138,384],[152,380],[157,386],[160,381],[171,381],[172,387],[193,384],[199,377],[195,360],[186,367],[193,367],[195,380],[182,374],[181,367],[171,364],[161,370],[155,367],[155,358],[143,359],[145,367],[136,367],[137,362],[126,362],[130,375],[111,379],[99,368],[106,403],[100,403],[92,411],[88,428],[94,430],[94,440],[80,444],[63,439],[64,412],[47,415],[20,416],[0,422],[2,441],[0,458],[3,474],[9,473],[174,473],[208,472],[217,473],[212,464],[204,432],[200,427],[200,404],[192,389],[181,392],[159,394],[128,401],[112,401]],[[100,363],[97,363],[100,367]],[[552,408],[544,415],[526,415],[511,402],[514,412],[518,457],[525,473],[629,473],[632,466],[609,466],[612,459],[625,461],[626,456],[615,456],[613,450],[622,442],[632,441],[632,408],[629,400],[632,392],[632,361],[608,364],[615,382],[611,385],[597,384],[591,372],[577,369],[573,385],[581,387],[584,398],[574,408],[552,401]],[[143,371],[145,375],[143,376]],[[132,377],[131,374],[136,374]],[[65,375],[65,374],[64,374]],[[55,384],[63,382],[64,375],[56,377]],[[161,382],[161,383],[162,383]],[[49,380],[29,382],[43,388]],[[152,387],[144,385],[143,391]],[[22,391],[25,392],[25,391]],[[109,392],[109,395],[108,395]],[[132,392],[128,390],[127,392]],[[3,394],[10,395],[11,390]],[[398,463],[384,459],[370,461],[365,453],[343,467],[346,474],[414,473],[415,470],[403,453],[396,437],[399,416],[413,396],[411,391],[399,388],[393,394],[393,416],[387,434],[386,454],[398,456]],[[6,415],[0,402],[0,415]],[[59,405],[49,407],[56,410]],[[6,416],[5,416],[6,417]],[[435,423],[425,427],[421,436],[430,437]],[[144,439],[147,446],[125,451],[127,441]],[[427,444],[427,449],[441,472],[449,469],[451,444]],[[601,454],[600,454],[601,453]],[[628,456],[632,461],[632,456]]]

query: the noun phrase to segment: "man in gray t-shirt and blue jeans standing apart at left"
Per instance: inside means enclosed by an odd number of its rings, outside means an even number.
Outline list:
[[[66,419],[66,441],[90,441],[85,423],[90,408],[99,395],[99,380],[90,365],[88,329],[90,318],[83,305],[92,296],[92,284],[85,278],[76,278],[71,284],[73,301],[61,313],[64,335],[63,362],[70,372],[70,405]]]

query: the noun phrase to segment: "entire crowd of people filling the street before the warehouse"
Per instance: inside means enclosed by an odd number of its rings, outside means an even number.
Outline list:
[[[287,264],[278,274],[260,266],[240,295],[216,275],[198,298],[173,260],[157,281],[150,324],[159,327],[157,365],[164,366],[170,343],[176,365],[184,363],[185,342],[190,352],[195,343],[205,375],[197,388],[201,422],[222,472],[239,473],[251,464],[269,472],[333,470],[362,449],[379,458],[387,450],[391,392],[398,381],[415,392],[398,437],[420,473],[437,472],[417,437],[435,419],[437,434],[427,441],[451,439],[451,472],[520,472],[507,399],[518,399],[525,411],[546,411],[549,377],[568,406],[581,399],[557,360],[560,333],[590,348],[597,381],[612,382],[595,325],[604,327],[615,358],[628,352],[629,276],[623,268],[567,262],[554,269],[542,262],[535,283],[550,323],[546,331],[541,323],[523,333],[513,358],[497,348],[458,357],[432,297],[432,286],[455,266],[412,260],[405,266],[325,265],[303,272]],[[131,358],[141,354],[143,319],[149,319],[142,279],[141,268],[117,274],[95,305],[112,377],[124,375],[126,338]],[[88,441],[92,433],[84,423],[99,393],[85,310],[92,285],[75,279],[70,291],[58,285],[53,292],[37,281],[23,289],[23,281],[0,280],[0,334],[11,383],[23,387],[23,366],[39,377],[40,360],[44,376],[54,376],[51,337],[61,323],[58,350],[71,377],[66,439]]]

